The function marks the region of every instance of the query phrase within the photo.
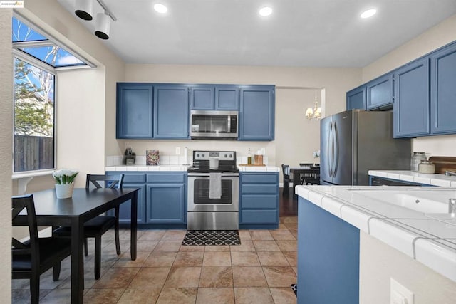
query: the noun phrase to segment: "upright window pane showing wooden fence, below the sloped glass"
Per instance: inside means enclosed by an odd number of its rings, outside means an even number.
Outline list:
[[[54,168],[56,76],[14,58],[14,172]]]

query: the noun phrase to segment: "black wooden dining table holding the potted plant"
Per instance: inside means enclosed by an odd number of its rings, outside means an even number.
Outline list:
[[[84,300],[83,241],[86,221],[131,201],[130,256],[132,260],[136,259],[138,189],[75,188],[69,199],[57,199],[55,189],[32,194],[38,226],[71,227],[71,303],[83,303]]]

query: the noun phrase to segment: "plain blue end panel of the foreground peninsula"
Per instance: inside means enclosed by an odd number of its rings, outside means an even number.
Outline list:
[[[359,229],[299,197],[298,303],[359,303]]]

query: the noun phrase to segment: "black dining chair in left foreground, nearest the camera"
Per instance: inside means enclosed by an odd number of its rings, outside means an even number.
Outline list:
[[[25,219],[24,216],[19,216],[23,210],[26,211]],[[12,198],[12,224],[13,226],[28,226],[29,234],[29,239],[26,241],[12,238],[12,278],[30,279],[31,303],[38,303],[41,274],[53,268],[53,281],[58,281],[61,261],[71,255],[71,239],[38,238],[32,194]]]

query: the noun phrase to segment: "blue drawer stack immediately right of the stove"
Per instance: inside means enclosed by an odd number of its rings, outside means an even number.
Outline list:
[[[239,228],[279,227],[279,173],[240,174]]]

